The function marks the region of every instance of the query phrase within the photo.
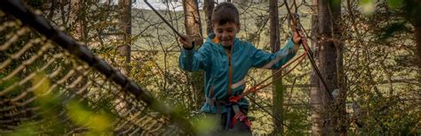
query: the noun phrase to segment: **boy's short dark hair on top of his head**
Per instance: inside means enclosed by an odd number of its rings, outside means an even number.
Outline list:
[[[218,25],[235,23],[236,25],[240,25],[239,12],[234,4],[226,2],[220,3],[213,10],[212,23]]]

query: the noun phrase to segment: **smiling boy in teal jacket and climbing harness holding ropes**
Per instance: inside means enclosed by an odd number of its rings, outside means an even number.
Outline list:
[[[233,103],[229,102],[229,97],[242,94],[244,77],[251,67],[277,69],[286,64],[296,55],[301,39],[295,33],[285,48],[273,54],[256,49],[250,42],[240,41],[235,38],[240,31],[239,12],[231,3],[215,7],[212,23],[215,34],[210,34],[197,51],[186,35],[179,39],[183,43],[179,66],[189,72],[205,72],[206,102],[201,110],[207,117],[219,120],[218,130],[251,134],[250,121],[246,117],[249,102],[242,98]],[[226,134],[218,130],[217,133]]]

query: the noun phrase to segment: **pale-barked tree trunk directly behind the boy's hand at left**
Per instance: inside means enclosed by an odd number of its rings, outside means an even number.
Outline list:
[[[187,35],[192,37],[195,41],[195,47],[200,48],[200,45],[203,43],[201,26],[200,26],[200,17],[199,17],[199,8],[197,7],[196,0],[184,0],[183,9],[185,14],[185,27]],[[194,94],[194,109],[197,110],[202,105],[204,99],[204,85],[203,85],[203,72],[193,72],[192,74],[192,86]]]

